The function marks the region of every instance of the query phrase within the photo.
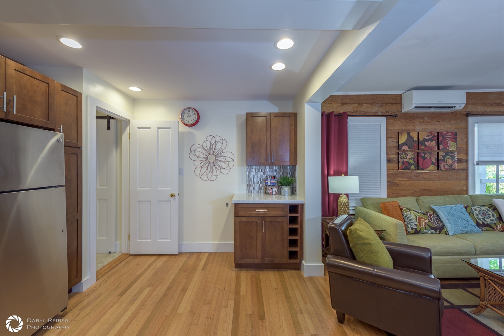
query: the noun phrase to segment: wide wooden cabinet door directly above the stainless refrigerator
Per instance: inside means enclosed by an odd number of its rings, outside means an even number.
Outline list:
[[[54,80],[10,59],[5,70],[7,119],[54,129]]]

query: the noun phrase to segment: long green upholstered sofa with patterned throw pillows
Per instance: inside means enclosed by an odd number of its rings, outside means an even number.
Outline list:
[[[437,278],[473,278],[476,272],[461,258],[504,257],[504,232],[483,231],[482,233],[462,233],[453,236],[445,234],[406,234],[404,225],[382,214],[380,204],[397,200],[403,207],[433,211],[431,206],[455,204],[493,204],[492,198],[504,199],[504,194],[474,194],[420,197],[363,197],[362,207],[355,208],[355,217],[360,217],[373,228],[385,229],[383,240],[403,244],[428,247],[432,250],[432,273]],[[502,214],[504,216],[504,214]]]

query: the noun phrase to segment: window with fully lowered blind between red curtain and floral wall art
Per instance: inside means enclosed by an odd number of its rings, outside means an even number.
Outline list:
[[[350,212],[361,197],[387,197],[385,117],[348,118],[348,175],[359,176],[359,193],[348,196]]]

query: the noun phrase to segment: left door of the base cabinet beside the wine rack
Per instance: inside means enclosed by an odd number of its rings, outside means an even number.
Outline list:
[[[234,218],[234,262],[261,262],[261,217]]]

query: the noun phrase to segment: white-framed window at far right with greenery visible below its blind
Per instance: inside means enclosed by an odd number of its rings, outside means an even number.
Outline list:
[[[504,117],[469,117],[469,193],[504,193]]]

